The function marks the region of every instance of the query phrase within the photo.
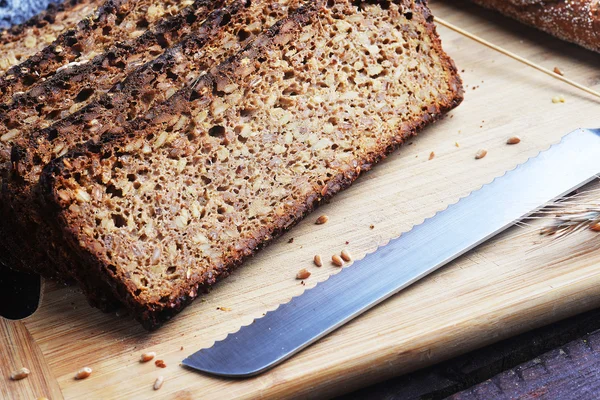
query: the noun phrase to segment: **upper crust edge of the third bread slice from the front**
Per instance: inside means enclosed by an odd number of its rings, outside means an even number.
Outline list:
[[[196,0],[178,14],[150,27],[143,35],[125,40],[107,49],[88,63],[56,72],[26,93],[13,96],[0,104],[0,135],[7,126],[19,124],[22,131],[38,130],[72,113],[72,107],[83,108],[108,92],[137,67],[162,54],[165,48],[196,31],[208,13],[223,1]],[[27,118],[23,121],[23,116]],[[25,136],[21,133],[20,136]]]

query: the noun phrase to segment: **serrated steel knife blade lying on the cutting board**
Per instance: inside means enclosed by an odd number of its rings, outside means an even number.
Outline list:
[[[291,357],[600,172],[600,129],[563,140],[183,365],[249,377]]]

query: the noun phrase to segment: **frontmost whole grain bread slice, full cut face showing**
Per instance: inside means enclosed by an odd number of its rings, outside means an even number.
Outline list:
[[[148,329],[462,100],[423,1],[310,1],[52,161],[48,219]]]

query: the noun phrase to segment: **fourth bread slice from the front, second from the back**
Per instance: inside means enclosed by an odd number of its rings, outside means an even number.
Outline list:
[[[193,0],[106,0],[93,15],[0,77],[0,103],[73,63],[86,63],[119,42],[142,35]],[[75,64],[76,65],[76,64]]]

